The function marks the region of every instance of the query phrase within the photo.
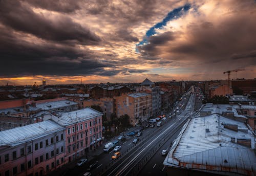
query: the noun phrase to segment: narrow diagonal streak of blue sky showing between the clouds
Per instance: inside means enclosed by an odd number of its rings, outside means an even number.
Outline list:
[[[166,17],[159,23],[157,23],[156,25],[154,25],[152,28],[150,28],[147,32],[145,37],[143,38],[142,41],[140,41],[139,43],[136,44],[136,46],[139,45],[147,45],[148,41],[148,37],[157,34],[156,29],[161,29],[162,27],[166,26],[167,22],[170,20],[174,20],[177,19],[179,17],[181,17],[184,13],[186,13],[189,9],[190,9],[191,5],[190,4],[186,4],[182,7],[176,8],[173,11],[170,11]],[[138,52],[138,50],[136,49],[136,52]]]

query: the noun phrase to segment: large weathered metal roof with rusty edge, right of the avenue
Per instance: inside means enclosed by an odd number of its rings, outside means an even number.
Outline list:
[[[224,124],[248,129],[243,122],[218,117],[217,114],[192,118],[183,126],[163,164],[218,174],[237,172],[253,175],[256,157],[252,149],[255,142],[251,131],[234,131],[224,128]],[[251,147],[231,142],[231,138],[250,139]]]

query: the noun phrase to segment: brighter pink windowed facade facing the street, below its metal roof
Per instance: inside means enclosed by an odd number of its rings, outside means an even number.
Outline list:
[[[68,125],[65,134],[65,163],[68,163],[83,155],[87,155],[89,150],[102,144],[102,117],[99,116]]]

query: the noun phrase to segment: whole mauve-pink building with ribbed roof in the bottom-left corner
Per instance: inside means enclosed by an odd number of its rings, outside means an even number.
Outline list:
[[[46,175],[62,166],[64,136],[52,120],[0,131],[0,175]]]

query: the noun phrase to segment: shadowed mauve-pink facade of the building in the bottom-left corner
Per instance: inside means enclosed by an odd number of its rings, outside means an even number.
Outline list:
[[[58,136],[58,141],[56,140]],[[61,139],[62,136],[62,139]],[[51,142],[53,139],[53,143]],[[13,173],[13,168],[17,167],[18,175],[38,175],[47,174],[56,168],[61,167],[64,164],[64,130],[57,131],[55,133],[48,134],[45,137],[40,137],[29,142],[24,142],[20,145],[14,147],[2,147],[0,148],[0,173],[5,175],[6,171],[9,170],[9,175],[15,175]],[[48,145],[46,145],[46,140],[48,140]],[[40,144],[41,143],[41,144]],[[36,149],[37,144],[37,149]],[[31,152],[29,152],[28,147],[31,147]],[[24,149],[24,155],[20,155],[20,149]],[[13,151],[16,151],[16,158],[13,158]],[[53,152],[53,156],[51,155]],[[57,153],[58,152],[58,153]],[[49,153],[49,158],[46,158],[46,153]],[[9,161],[5,162],[5,155],[9,155]],[[42,160],[40,160],[40,157]],[[62,158],[62,159],[61,159]],[[36,160],[38,163],[36,164]],[[29,167],[29,162],[31,161],[31,167]],[[22,170],[24,165],[24,170]]]

